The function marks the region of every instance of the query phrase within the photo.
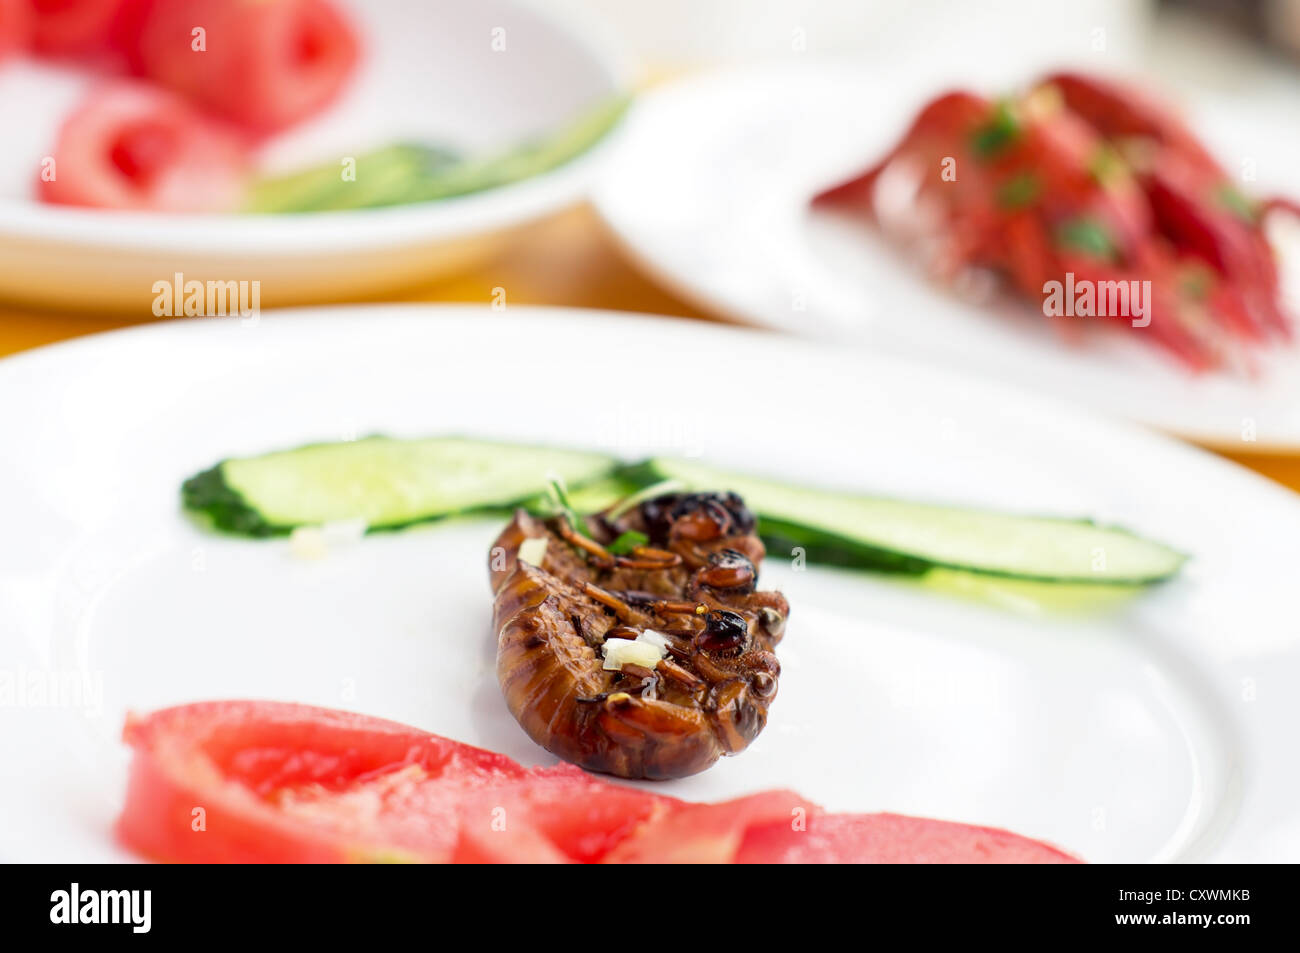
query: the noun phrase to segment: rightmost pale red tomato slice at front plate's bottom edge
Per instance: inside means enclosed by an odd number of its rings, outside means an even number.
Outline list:
[[[993,827],[900,814],[822,814],[749,828],[736,863],[1079,863],[1049,844]]]

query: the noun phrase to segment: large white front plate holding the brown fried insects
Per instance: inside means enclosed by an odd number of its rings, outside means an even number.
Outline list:
[[[694,454],[1091,514],[1179,546],[1195,555],[1182,579],[1093,618],[797,571],[774,553],[764,584],[793,610],[767,731],[656,789],[790,785],[833,809],[1005,826],[1092,861],[1300,859],[1300,504],[1165,438],[896,359],[528,308],[151,325],[0,363],[0,406],[25,408],[0,424],[5,859],[124,857],[109,826],[127,709],[303,701],[551,761],[493,673],[499,523],[304,562],[178,511],[181,481],[222,456],[377,430]]]

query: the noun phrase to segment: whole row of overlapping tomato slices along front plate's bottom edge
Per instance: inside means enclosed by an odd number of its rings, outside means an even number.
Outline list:
[[[125,738],[135,753],[117,832],[161,861],[1074,859],[992,828],[823,814],[789,790],[688,803],[307,705],[183,705],[129,718]]]

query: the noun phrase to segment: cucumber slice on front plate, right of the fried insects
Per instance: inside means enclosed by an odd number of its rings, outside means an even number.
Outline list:
[[[854,493],[789,486],[689,460],[653,459],[627,468],[641,482],[680,480],[698,490],[733,490],[775,550],[802,546],[811,562],[920,573],[945,567],[1050,582],[1144,585],[1169,579],[1182,553],[1088,520],[1017,516]]]

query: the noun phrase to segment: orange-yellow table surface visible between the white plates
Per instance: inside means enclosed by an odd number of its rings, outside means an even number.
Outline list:
[[[510,304],[564,304],[714,320],[638,273],[589,208],[575,208],[515,233],[503,239],[494,257],[469,272],[382,300],[489,302],[495,287],[507,290]],[[170,319],[39,312],[0,304],[0,356],[156,320]],[[1300,490],[1300,454],[1216,452]]]

